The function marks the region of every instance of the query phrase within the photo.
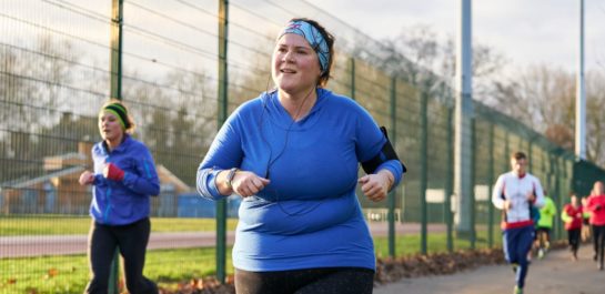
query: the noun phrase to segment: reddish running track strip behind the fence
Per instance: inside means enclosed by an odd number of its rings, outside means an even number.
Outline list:
[[[370,223],[370,230],[374,236],[386,236],[387,223]],[[397,223],[396,234],[417,234],[420,224]],[[443,232],[444,225],[428,225],[428,232]],[[228,232],[228,244],[233,244],[234,232]],[[40,255],[62,255],[87,253],[87,235],[27,235],[27,236],[0,236],[0,258],[26,257]],[[212,247],[215,243],[214,232],[168,232],[151,233],[149,250],[157,249],[184,249],[184,247]]]

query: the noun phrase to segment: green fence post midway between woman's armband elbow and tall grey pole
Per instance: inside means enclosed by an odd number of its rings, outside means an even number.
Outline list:
[[[421,145],[420,145],[420,160],[421,160],[421,175],[420,175],[420,201],[421,201],[421,252],[426,254],[427,251],[427,205],[426,205],[426,181],[428,178],[428,88],[423,85],[421,90]]]

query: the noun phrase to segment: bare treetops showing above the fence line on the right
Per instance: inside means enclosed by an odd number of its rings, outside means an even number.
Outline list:
[[[359,44],[360,48],[373,44]],[[455,73],[455,42],[452,37],[440,41],[430,26],[404,28],[394,39],[376,48],[354,52],[373,64],[396,74],[410,84],[438,99],[443,89],[452,88]],[[361,54],[360,54],[361,57]],[[543,133],[549,141],[572,150],[575,125],[575,79],[563,69],[545,64],[518,70],[512,78],[503,78],[506,58],[495,49],[473,44],[473,99]],[[587,74],[587,158],[605,166],[605,77],[601,72]],[[447,87],[443,87],[443,85]]]

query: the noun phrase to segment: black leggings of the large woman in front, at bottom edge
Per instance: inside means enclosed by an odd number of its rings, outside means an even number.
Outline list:
[[[374,271],[326,267],[280,272],[235,270],[238,294],[371,294]]]

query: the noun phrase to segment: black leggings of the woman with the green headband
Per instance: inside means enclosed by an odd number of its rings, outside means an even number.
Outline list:
[[[128,292],[157,294],[158,286],[143,276],[150,230],[148,217],[128,225],[103,225],[92,221],[89,235],[92,278],[84,293],[108,293],[111,261],[118,247],[124,262]]]

